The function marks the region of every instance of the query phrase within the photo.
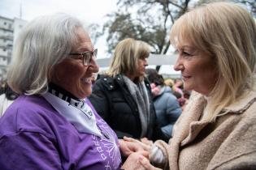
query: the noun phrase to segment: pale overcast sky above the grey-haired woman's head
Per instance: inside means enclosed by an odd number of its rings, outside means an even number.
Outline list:
[[[86,24],[102,25],[106,21],[106,14],[115,11],[116,2],[117,0],[0,0],[0,15],[10,19],[21,16],[21,19],[31,21],[40,15],[64,12],[76,16]],[[100,37],[94,46],[98,48],[98,58],[110,57],[106,53],[106,37]]]

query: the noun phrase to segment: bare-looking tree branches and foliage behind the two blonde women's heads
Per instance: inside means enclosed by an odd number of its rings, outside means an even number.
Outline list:
[[[153,53],[167,53],[169,31],[176,19],[188,11],[189,7],[216,0],[118,0],[117,11],[107,15],[101,34],[107,35],[108,52],[124,38],[144,40],[152,47]],[[233,0],[244,4],[256,17],[255,0]],[[96,38],[97,38],[96,37]]]

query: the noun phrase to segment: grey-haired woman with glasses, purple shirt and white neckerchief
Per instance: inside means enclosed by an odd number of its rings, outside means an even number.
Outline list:
[[[119,169],[118,138],[90,104],[98,72],[82,23],[69,15],[28,23],[7,79],[20,94],[0,119],[1,169]],[[121,142],[120,144],[124,144]]]

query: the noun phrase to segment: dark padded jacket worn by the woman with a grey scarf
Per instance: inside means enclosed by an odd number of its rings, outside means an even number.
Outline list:
[[[151,140],[165,139],[158,128],[152,101],[150,83],[145,80],[150,96],[150,125],[145,135]],[[93,85],[93,93],[89,100],[98,114],[111,126],[118,138],[124,136],[141,138],[141,120],[135,100],[128,91],[120,74],[115,78],[101,75]]]

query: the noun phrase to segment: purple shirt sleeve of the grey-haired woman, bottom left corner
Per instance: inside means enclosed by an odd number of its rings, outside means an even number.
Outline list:
[[[63,169],[53,141],[43,134],[22,132],[3,136],[0,140],[1,169]],[[4,163],[2,161],[5,161]]]

